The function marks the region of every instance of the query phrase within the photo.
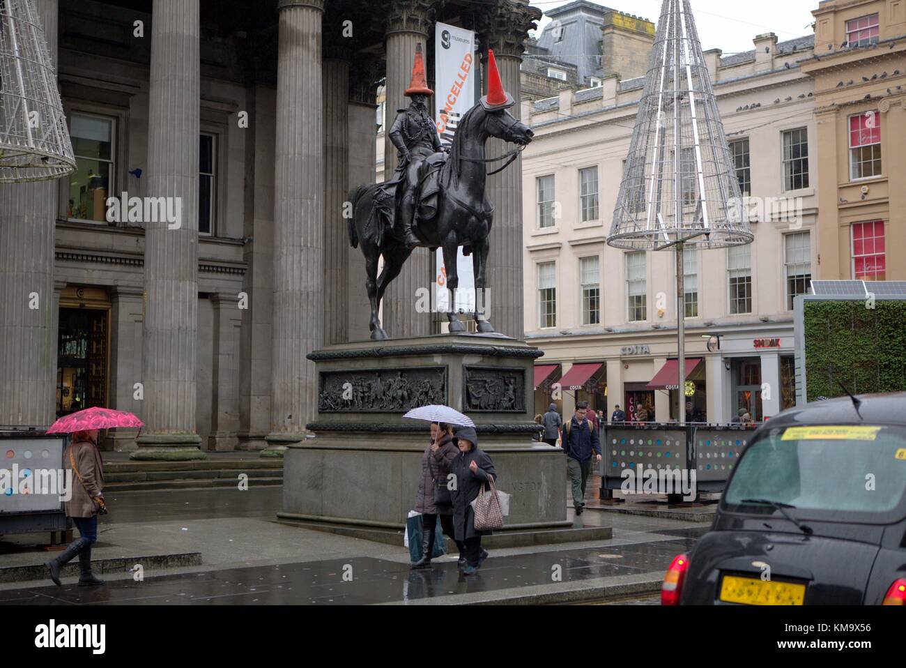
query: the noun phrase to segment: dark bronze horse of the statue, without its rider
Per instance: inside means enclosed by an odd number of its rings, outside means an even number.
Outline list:
[[[494,220],[494,205],[487,200],[485,195],[488,176],[487,163],[501,160],[486,159],[485,144],[490,137],[515,143],[520,148],[510,151],[508,154],[509,161],[512,161],[516,159],[518,151],[525,147],[534,136],[522,121],[506,111],[506,108],[513,104],[512,96],[506,93],[508,101],[506,104],[502,102],[488,104],[487,97],[467,111],[459,120],[449,154],[435,153],[422,163],[419,170],[419,179],[423,184],[431,178],[429,172],[432,170],[432,166],[438,179],[436,213],[431,218],[419,220],[416,236],[422,241],[419,246],[443,250],[449,291],[450,306],[447,318],[450,332],[466,331],[454,306],[456,304],[454,291],[459,285],[458,247],[464,247],[464,253],[471,254],[473,258],[477,305],[482,303],[478,299],[478,295],[485,294],[489,251],[487,236],[491,232]],[[503,158],[507,158],[507,155]],[[438,164],[440,165],[439,171],[437,170]],[[504,167],[508,164],[509,162],[506,162]],[[381,212],[375,206],[375,194],[379,194],[378,191],[382,185],[384,184],[372,183],[367,186],[359,186],[354,189],[350,197],[352,218],[349,221],[349,239],[353,248],[361,244],[361,252],[365,256],[365,268],[368,275],[366,286],[368,299],[371,302],[369,327],[371,339],[374,340],[388,338],[378,317],[381,299],[390,282],[400,275],[403,264],[412,252],[403,239],[397,236],[398,233],[394,232],[393,226],[382,219]],[[423,186],[422,193],[424,191]],[[384,259],[384,266],[381,276],[378,276],[378,258],[381,256]],[[477,331],[494,332],[494,327],[485,316],[483,309],[477,308]]]

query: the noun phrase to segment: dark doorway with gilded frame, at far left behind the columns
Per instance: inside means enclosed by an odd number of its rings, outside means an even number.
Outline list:
[[[67,287],[57,330],[57,417],[107,407],[110,376],[110,300],[105,290]]]

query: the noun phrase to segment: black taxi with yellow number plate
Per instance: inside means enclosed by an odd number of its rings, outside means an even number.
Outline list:
[[[906,605],[906,392],[784,411],[740,456],[663,605]]]

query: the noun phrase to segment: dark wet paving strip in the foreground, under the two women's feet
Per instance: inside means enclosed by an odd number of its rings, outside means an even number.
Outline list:
[[[662,572],[694,538],[620,547],[565,549],[488,558],[476,577],[458,573],[455,561],[412,571],[406,564],[353,557],[276,566],[155,576],[143,582],[111,581],[101,587],[39,586],[0,592],[0,605],[292,605],[377,604],[436,596],[551,586],[602,577]],[[344,581],[344,576],[346,581]]]

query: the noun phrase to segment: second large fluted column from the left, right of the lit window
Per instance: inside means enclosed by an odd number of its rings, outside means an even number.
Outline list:
[[[179,219],[144,221],[145,428],[135,460],[200,460],[198,335],[199,0],[154,0],[147,194]]]

